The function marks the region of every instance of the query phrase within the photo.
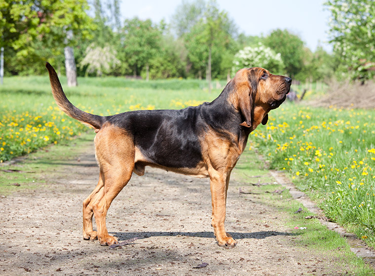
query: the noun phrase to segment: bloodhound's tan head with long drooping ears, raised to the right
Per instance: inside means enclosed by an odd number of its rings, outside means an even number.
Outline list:
[[[244,122],[241,126],[254,130],[268,121],[268,112],[282,104],[290,91],[292,79],[273,75],[254,67],[239,70],[234,76],[234,91]]]

